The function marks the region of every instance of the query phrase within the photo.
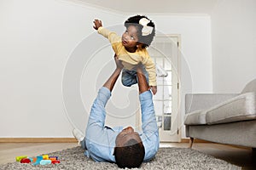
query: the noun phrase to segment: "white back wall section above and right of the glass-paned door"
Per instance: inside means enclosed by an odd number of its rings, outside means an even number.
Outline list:
[[[152,17],[165,34],[181,35],[182,69],[187,62],[194,93],[212,92],[211,19],[208,15],[160,15]],[[182,72],[186,77],[186,72]],[[187,87],[183,83],[184,88]],[[189,87],[188,87],[189,88]]]

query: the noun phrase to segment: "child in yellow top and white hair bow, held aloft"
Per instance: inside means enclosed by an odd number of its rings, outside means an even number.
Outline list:
[[[136,15],[125,20],[126,30],[122,37],[102,27],[101,20],[94,20],[93,26],[98,33],[107,37],[119,60],[122,61],[122,83],[126,87],[137,83],[137,65],[143,65],[143,74],[153,94],[157,92],[156,72],[147,47],[155,35],[154,23],[148,17]]]

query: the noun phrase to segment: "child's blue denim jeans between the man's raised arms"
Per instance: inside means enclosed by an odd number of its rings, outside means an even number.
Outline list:
[[[145,70],[143,66],[143,75],[146,77],[148,82],[148,71]],[[137,71],[129,71],[127,69],[123,69],[122,71],[122,83],[126,87],[131,87],[133,84],[137,84]]]

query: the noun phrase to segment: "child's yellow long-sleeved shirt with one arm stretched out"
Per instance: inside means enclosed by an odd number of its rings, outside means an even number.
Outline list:
[[[132,70],[135,65],[142,63],[145,66],[146,71],[148,71],[148,85],[156,86],[154,62],[150,58],[146,48],[137,48],[135,53],[130,53],[123,46],[121,37],[119,37],[115,32],[109,31],[101,26],[98,28],[98,33],[108,38],[109,42],[111,42],[114,53],[123,61],[122,64],[125,69]]]

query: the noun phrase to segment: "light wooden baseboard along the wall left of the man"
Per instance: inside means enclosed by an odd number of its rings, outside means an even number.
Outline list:
[[[74,138],[0,138],[0,143],[76,143]]]

